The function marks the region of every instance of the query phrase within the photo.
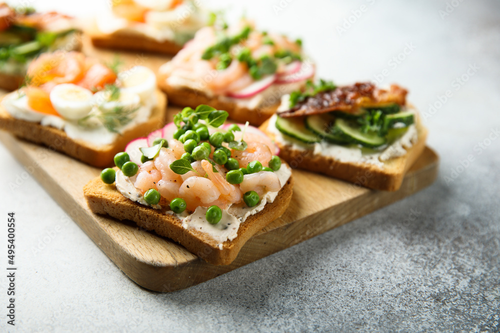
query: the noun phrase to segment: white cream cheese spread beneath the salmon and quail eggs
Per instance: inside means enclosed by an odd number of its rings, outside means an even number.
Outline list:
[[[156,97],[151,97],[142,104],[132,118],[124,126],[117,127],[117,133],[108,131],[104,126],[96,123],[94,127],[81,126],[77,121],[66,120],[57,116],[37,112],[27,104],[27,97],[19,91],[14,91],[5,96],[1,102],[4,109],[14,118],[31,122],[39,122],[44,126],[51,126],[64,130],[71,139],[83,140],[94,145],[107,145],[116,140],[118,135],[126,130],[146,122],[151,110],[157,105]]]

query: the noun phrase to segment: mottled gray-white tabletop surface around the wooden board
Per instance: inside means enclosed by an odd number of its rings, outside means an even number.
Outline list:
[[[424,113],[451,90],[425,119],[429,145],[441,156],[440,173],[434,185],[408,199],[184,291],[137,287],[30,177],[10,191],[22,167],[0,147],[0,213],[13,210],[18,221],[15,329],[498,332],[500,2],[451,2],[459,5],[442,18],[445,1],[247,5],[247,15],[261,26],[301,36],[323,77],[373,79],[386,68],[382,83],[408,87]],[[286,6],[276,14],[273,5],[280,3]],[[336,27],[362,4],[367,10],[339,35]],[[232,6],[239,10],[239,3]],[[297,22],[304,12],[309,17]],[[393,68],[391,57],[406,43],[415,49]],[[479,69],[456,86],[455,77],[473,64]],[[496,140],[486,146],[489,135]],[[473,161],[460,167],[469,155]],[[0,249],[5,239],[1,227]]]

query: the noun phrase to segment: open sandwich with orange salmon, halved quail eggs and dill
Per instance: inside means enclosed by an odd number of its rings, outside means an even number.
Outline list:
[[[26,85],[2,98],[0,129],[102,167],[161,127],[165,107],[150,69],[116,73],[82,53],[56,51],[33,60]]]

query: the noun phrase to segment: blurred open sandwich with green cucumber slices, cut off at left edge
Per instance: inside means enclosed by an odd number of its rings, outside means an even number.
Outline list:
[[[71,17],[0,3],[0,88],[19,88],[29,62],[40,53],[80,48],[81,33]]]

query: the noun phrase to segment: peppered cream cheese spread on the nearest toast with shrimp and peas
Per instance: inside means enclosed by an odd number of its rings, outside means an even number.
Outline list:
[[[268,172],[268,171],[261,171]],[[279,170],[275,171],[278,176],[281,188],[286,184],[291,176],[291,170],[284,163],[281,164]],[[145,202],[141,192],[133,186],[134,177],[128,178],[121,171],[116,172],[116,189],[126,198],[138,202],[142,205],[149,206],[155,209],[160,209],[159,205],[151,206]],[[232,241],[238,235],[238,229],[241,223],[261,210],[264,209],[267,203],[272,203],[277,192],[266,192],[258,205],[247,207],[244,202],[237,205],[232,205],[228,209],[222,210],[222,219],[217,224],[210,224],[206,220],[205,214],[208,207],[197,207],[194,212],[187,214],[185,211],[182,214],[174,214],[172,211],[167,211],[166,214],[176,215],[182,221],[182,227],[186,230],[196,230],[217,242],[218,248],[222,250],[222,243]]]

